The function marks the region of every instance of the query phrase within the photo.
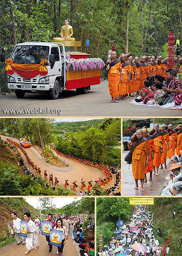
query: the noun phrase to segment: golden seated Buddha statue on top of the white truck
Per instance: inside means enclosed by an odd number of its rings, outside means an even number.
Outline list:
[[[65,19],[65,25],[61,28],[61,37],[53,38],[53,41],[75,41],[73,35],[73,27],[69,25],[69,20]]]

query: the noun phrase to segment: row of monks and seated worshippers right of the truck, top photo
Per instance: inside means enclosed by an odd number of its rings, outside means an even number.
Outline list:
[[[140,59],[122,53],[111,53],[112,62],[107,66],[111,102],[136,96],[131,103],[160,106],[172,103],[182,109],[182,84],[175,69],[169,68],[168,58],[159,55],[142,56]],[[182,58],[179,66],[182,67]],[[179,72],[180,69],[178,69]],[[168,106],[168,105],[167,105]],[[171,105],[170,105],[171,107]]]

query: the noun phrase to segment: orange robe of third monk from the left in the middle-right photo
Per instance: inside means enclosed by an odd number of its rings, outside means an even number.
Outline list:
[[[162,133],[159,132],[159,134],[162,134]],[[154,145],[155,145],[155,152],[154,152],[154,159],[153,159],[154,167],[159,167],[161,164],[161,155],[162,155],[161,148],[163,147],[163,145],[162,145],[163,143],[164,143],[163,135],[154,137]]]

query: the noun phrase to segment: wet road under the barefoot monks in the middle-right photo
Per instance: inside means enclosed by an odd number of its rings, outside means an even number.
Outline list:
[[[123,152],[123,196],[159,196],[165,184],[165,176],[169,174],[167,170],[170,164],[167,164],[167,169],[159,169],[159,176],[152,175],[153,180],[145,182],[145,191],[141,192],[140,181],[138,182],[139,189],[133,189],[135,187],[135,180],[133,179],[132,167],[131,164],[129,166],[124,160],[128,152]],[[167,160],[168,162],[169,159]],[[147,173],[147,179],[149,180],[149,173]]]

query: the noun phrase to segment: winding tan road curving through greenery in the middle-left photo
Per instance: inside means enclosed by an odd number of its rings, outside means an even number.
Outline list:
[[[2,140],[6,141],[6,137],[4,137],[3,135],[1,135],[1,138],[2,138]],[[10,137],[8,137],[8,138],[13,141],[16,141],[18,143],[17,139],[10,138]],[[54,182],[54,177],[57,177],[57,179],[59,180],[59,185],[64,186],[65,180],[68,179],[69,186],[67,188],[69,190],[71,190],[71,188],[72,188],[72,185],[73,185],[72,182],[77,181],[76,183],[78,185],[78,188],[76,188],[76,193],[80,192],[80,182],[81,182],[82,178],[86,184],[84,192],[87,191],[87,186],[88,186],[87,182],[88,181],[92,180],[93,181],[92,185],[94,185],[95,184],[94,181],[98,180],[99,177],[102,177],[103,179],[106,178],[105,173],[103,171],[101,171],[99,168],[95,168],[93,166],[88,166],[83,163],[78,163],[72,159],[66,159],[66,163],[69,164],[68,167],[65,167],[65,168],[56,167],[56,166],[52,166],[52,165],[48,164],[47,162],[45,162],[45,160],[38,153],[38,151],[36,149],[34,149],[34,147],[25,148],[25,151],[27,152],[30,159],[34,162],[34,164],[36,164],[38,167],[40,167],[43,179],[44,179],[44,171],[47,170],[48,177],[49,177],[49,173],[53,173],[53,182]],[[34,169],[32,169],[31,166],[28,165],[28,162],[27,162],[23,152],[22,151],[20,151],[20,152],[23,155],[23,159],[25,160],[26,166],[30,167],[30,170],[36,176],[38,176],[36,171]],[[60,157],[60,159],[63,160],[63,158],[61,158],[61,157]],[[104,190],[106,190],[107,188],[110,188],[113,185],[114,185],[114,177],[103,188],[104,188]]]

